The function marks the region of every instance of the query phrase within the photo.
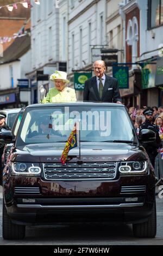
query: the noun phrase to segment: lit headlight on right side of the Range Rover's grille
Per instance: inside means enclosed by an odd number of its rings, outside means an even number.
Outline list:
[[[121,162],[119,166],[121,174],[147,174],[147,161]]]

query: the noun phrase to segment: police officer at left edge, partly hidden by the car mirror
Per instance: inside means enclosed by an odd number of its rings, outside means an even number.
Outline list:
[[[5,123],[6,114],[4,112],[0,112],[0,134],[2,131],[10,130],[9,126]],[[2,168],[2,155],[3,155],[4,144],[0,143],[0,185],[2,185],[2,175],[3,175],[3,168]]]

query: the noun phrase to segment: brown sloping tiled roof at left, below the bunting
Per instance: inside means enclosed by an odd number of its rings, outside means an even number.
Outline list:
[[[4,51],[3,57],[0,59],[0,65],[4,63],[19,60],[23,54],[30,49],[30,36],[24,35],[16,38],[15,41]]]

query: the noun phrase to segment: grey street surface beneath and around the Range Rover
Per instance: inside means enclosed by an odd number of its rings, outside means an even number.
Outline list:
[[[157,234],[154,239],[136,239],[131,225],[63,225],[26,227],[24,240],[2,238],[2,186],[0,188],[0,245],[162,245],[163,199],[156,196]]]

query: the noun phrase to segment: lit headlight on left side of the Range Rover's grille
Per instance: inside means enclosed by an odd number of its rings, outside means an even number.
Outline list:
[[[11,164],[12,175],[38,175],[41,173],[39,163],[14,162]]]

